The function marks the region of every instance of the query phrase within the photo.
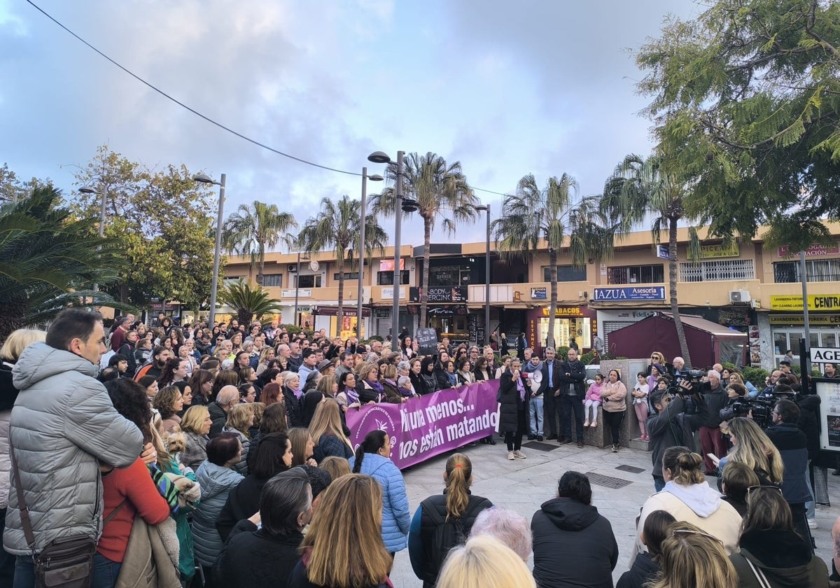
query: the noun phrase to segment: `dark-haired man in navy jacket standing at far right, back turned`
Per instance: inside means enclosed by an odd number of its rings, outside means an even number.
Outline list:
[[[782,480],[782,496],[790,505],[796,533],[805,538],[808,548],[812,549],[811,531],[805,516],[805,503],[813,500],[808,490],[808,439],[796,426],[800,410],[790,400],[780,400],[773,408],[773,426],[765,433],[779,449],[785,474]]]

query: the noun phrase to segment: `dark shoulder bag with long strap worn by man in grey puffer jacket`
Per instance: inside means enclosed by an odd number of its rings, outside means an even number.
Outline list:
[[[52,588],[53,586],[89,588],[93,573],[93,555],[97,553],[97,542],[87,535],[77,535],[55,539],[41,553],[35,553],[35,536],[32,532],[32,522],[29,520],[29,508],[24,501],[24,490],[20,485],[18,462],[14,459],[11,431],[8,436],[8,448],[9,458],[12,461],[14,486],[18,493],[20,522],[24,527],[26,543],[32,551],[35,586],[37,588]],[[115,509],[112,516],[118,510],[118,508]]]

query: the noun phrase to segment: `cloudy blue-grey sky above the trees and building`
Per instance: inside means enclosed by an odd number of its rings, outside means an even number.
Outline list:
[[[252,139],[344,171],[371,151],[459,160],[475,188],[568,173],[601,192],[647,155],[631,50],[692,0],[34,0],[172,97]],[[232,212],[255,199],[304,221],[361,181],[228,134],[145,87],[24,0],[0,0],[0,164],[73,188],[97,145],[146,165],[226,173]],[[376,192],[381,184],[369,184]],[[501,196],[476,191],[499,210]],[[383,222],[391,227],[392,220]],[[458,239],[483,239],[483,227]],[[403,243],[422,244],[418,219]],[[440,231],[433,240],[444,241]]]

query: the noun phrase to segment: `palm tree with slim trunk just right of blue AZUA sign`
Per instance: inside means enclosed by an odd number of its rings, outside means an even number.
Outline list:
[[[608,218],[620,224],[622,233],[627,233],[638,223],[654,216],[651,233],[654,243],[659,244],[663,229],[668,231],[668,289],[671,314],[677,329],[685,365],[691,365],[685,329],[677,305],[677,224],[685,219],[685,186],[676,181],[664,169],[664,160],[658,155],[643,159],[639,155],[627,155],[616,166],[612,176],[604,185],[604,199],[601,210]],[[689,227],[689,259],[700,257],[700,239],[696,226]]]

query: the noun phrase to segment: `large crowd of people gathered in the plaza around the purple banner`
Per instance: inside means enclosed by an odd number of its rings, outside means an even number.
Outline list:
[[[507,459],[527,457],[526,436],[582,447],[599,418],[617,452],[625,415],[638,419],[656,493],[619,586],[827,585],[806,518],[806,399],[778,397],[763,430],[733,412],[751,391],[722,366],[690,381],[680,358],[652,354],[628,391],[617,370],[587,382],[576,349],[500,359],[444,339],[435,351],[407,333],[363,345],[165,316],[152,328],[118,318],[106,333],[81,309],[12,333],[0,349],[0,584],[45,585],[58,566],[96,588],[379,587],[407,549],[424,588],[612,586],[617,542],[586,475],[564,473],[529,524],[472,495],[473,465],[455,453],[444,491],[412,516],[393,439],[349,441],[350,410],[497,379]],[[774,393],[793,390],[783,378]]]

